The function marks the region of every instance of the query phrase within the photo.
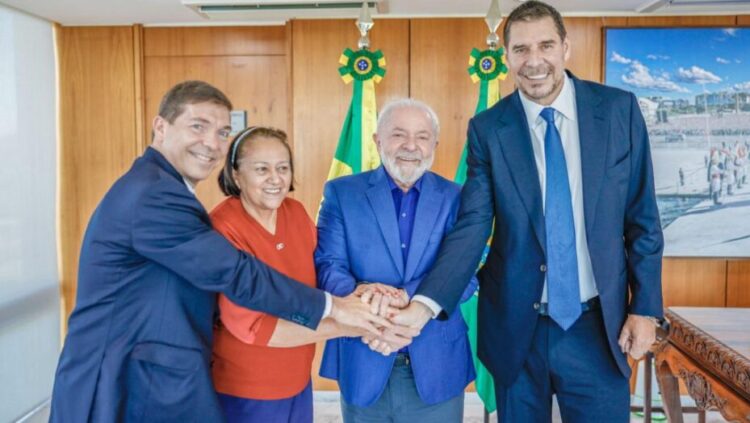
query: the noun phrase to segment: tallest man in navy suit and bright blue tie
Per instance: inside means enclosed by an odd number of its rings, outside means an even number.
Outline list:
[[[639,358],[662,316],[663,238],[649,141],[631,93],[564,70],[560,14],[527,1],[506,20],[518,89],[469,123],[458,221],[412,304],[421,327],[451,313],[478,274],[478,354],[499,421],[629,421],[626,353]]]

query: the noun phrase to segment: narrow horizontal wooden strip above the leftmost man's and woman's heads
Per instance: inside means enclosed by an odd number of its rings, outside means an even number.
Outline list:
[[[283,26],[145,28],[145,56],[284,55]]]

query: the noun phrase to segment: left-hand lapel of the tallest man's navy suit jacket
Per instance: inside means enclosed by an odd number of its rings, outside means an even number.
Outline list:
[[[518,91],[512,94],[500,115],[500,126],[497,129],[498,144],[510,169],[513,185],[521,196],[531,220],[534,234],[542,250],[546,251],[542,189],[539,186],[539,172],[531,146],[531,133]]]

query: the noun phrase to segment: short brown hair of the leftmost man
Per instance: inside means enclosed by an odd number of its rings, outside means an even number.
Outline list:
[[[159,116],[174,123],[186,104],[214,103],[232,110],[232,102],[221,90],[203,81],[184,81],[170,88],[159,104]]]

